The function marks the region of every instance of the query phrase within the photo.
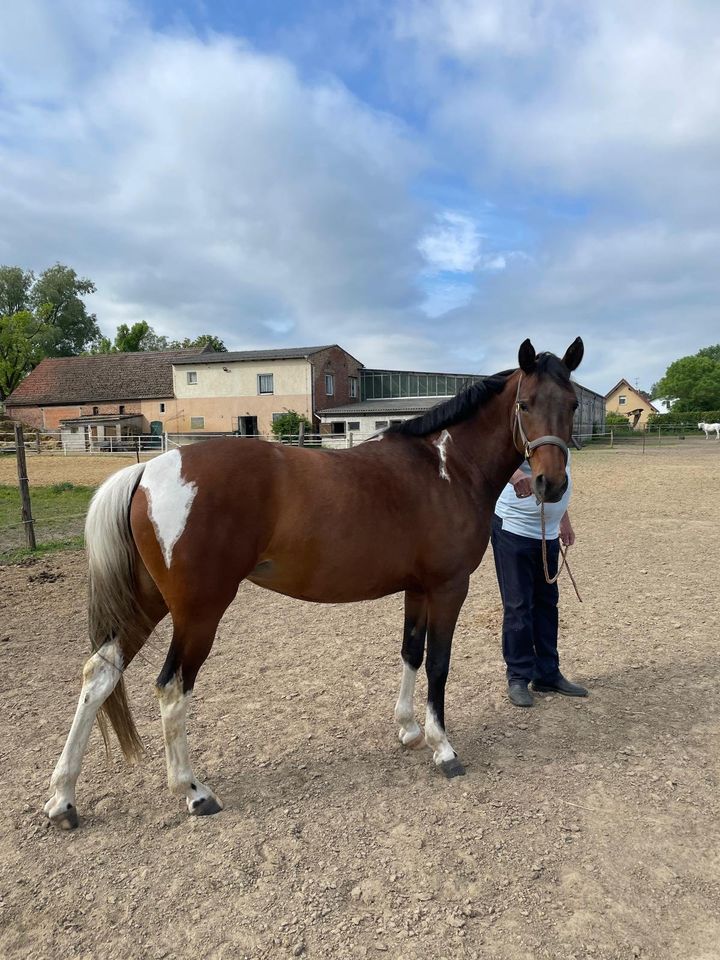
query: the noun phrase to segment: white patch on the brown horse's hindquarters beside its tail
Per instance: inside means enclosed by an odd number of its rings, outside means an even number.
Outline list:
[[[197,485],[183,480],[180,451],[170,450],[148,463],[140,486],[145,491],[148,514],[169,570],[173,547],[185,529]]]

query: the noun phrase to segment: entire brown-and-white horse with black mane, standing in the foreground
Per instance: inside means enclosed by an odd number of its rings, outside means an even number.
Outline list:
[[[578,406],[570,374],[583,352],[579,337],[562,360],[525,340],[518,369],[348,450],[220,438],[106,480],[85,527],[94,652],[51,777],[50,821],[78,826],[76,783],[96,718],[106,747],[109,720],[128,760],[142,752],[123,673],[168,613],[172,640],[156,681],[168,785],[189,814],[222,809],[193,773],[186,719],[220,619],[245,579],[316,603],[404,592],[399,739],[429,746],[447,777],[462,775],[445,729],[455,624],[495,502],[523,459],[539,501],[556,502],[566,489]],[[413,695],[426,647],[423,732]]]

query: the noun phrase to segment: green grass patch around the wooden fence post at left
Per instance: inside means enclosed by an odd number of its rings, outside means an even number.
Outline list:
[[[94,487],[67,482],[30,487],[39,548],[34,555],[82,547],[85,515],[94,492]],[[32,551],[25,548],[20,491],[16,486],[0,485],[0,560],[17,562],[32,555]]]

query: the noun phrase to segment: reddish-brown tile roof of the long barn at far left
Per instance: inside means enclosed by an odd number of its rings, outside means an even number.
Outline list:
[[[197,356],[194,349],[47,358],[10,394],[6,406],[172,397],[173,363]]]

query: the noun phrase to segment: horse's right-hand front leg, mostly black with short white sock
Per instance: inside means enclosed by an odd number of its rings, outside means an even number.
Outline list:
[[[427,659],[428,702],[425,715],[425,740],[433,751],[433,760],[446,777],[457,777],[465,768],[457,758],[445,733],[445,683],[450,670],[450,651],[460,608],[468,591],[468,578],[445,584],[434,591],[428,603]]]

